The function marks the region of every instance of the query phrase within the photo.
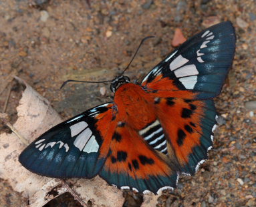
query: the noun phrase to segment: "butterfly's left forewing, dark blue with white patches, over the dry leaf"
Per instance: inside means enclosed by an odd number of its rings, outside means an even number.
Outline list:
[[[100,119],[110,130],[112,106],[106,103],[51,128],[21,153],[19,162],[31,172],[53,178],[96,176],[110,144],[107,136],[100,135],[104,132],[99,132],[97,122]]]

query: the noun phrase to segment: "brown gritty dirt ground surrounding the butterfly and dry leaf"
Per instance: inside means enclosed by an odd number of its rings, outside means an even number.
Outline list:
[[[255,1],[0,1],[1,111],[10,90],[6,112],[15,122],[22,89],[9,83],[15,73],[70,118],[110,101],[99,98],[100,87],[106,87],[106,95],[112,93],[104,83],[69,83],[60,91],[66,79],[112,79],[128,65],[140,40],[154,35],[126,73],[132,80],[142,79],[173,49],[177,27],[190,37],[227,20],[235,26],[237,50],[223,92],[215,99],[221,119],[214,149],[199,173],[182,178],[174,194],[162,194],[158,206],[256,206]],[[0,186],[5,190],[4,182]],[[126,206],[139,206],[134,200],[140,196],[128,192],[126,198]]]

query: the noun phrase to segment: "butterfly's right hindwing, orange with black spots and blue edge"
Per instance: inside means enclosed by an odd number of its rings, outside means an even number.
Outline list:
[[[213,101],[161,99],[158,108],[158,118],[174,152],[169,156],[176,157],[181,173],[195,174],[213,146],[217,116]]]

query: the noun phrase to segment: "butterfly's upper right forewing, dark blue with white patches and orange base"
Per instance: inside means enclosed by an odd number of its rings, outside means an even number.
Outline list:
[[[160,97],[213,98],[221,92],[234,53],[233,25],[219,23],[170,53],[146,75],[142,85]]]

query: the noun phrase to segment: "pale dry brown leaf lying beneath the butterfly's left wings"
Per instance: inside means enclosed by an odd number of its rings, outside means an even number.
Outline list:
[[[16,79],[23,83],[26,89],[19,101],[18,119],[13,127],[21,136],[32,142],[43,132],[61,122],[61,118],[51,108],[47,99],[41,97],[25,81],[18,77]],[[18,157],[24,148],[25,146],[14,133],[0,135],[0,178],[7,180],[13,190],[28,198],[29,206],[43,206],[53,199],[53,196],[48,195],[52,188],[55,188],[58,195],[67,192],[66,188],[61,187],[59,180],[38,176],[21,166]],[[72,181],[76,181],[73,189],[80,194],[84,202],[91,200],[94,206],[106,207],[118,207],[124,203],[122,191],[109,186],[98,176],[91,180]]]

